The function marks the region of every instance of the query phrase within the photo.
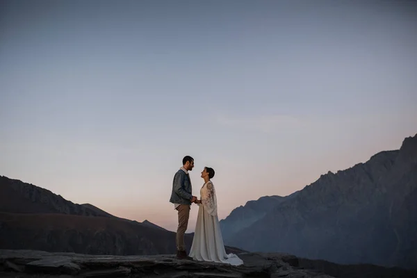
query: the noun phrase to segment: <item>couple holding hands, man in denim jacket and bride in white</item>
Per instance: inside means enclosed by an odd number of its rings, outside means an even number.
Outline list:
[[[204,179],[204,185],[200,189],[201,197],[197,199],[192,195],[190,174],[188,174],[188,171],[193,170],[194,159],[191,156],[185,156],[182,163],[183,167],[174,176],[170,199],[170,202],[174,204],[174,208],[178,211],[177,259],[242,265],[243,261],[238,256],[226,254],[226,250],[224,250],[217,214],[217,199],[211,182],[214,177],[214,170],[210,167],[204,167],[201,176]],[[184,234],[188,227],[191,203],[197,204],[199,209],[193,245],[191,245],[190,256],[188,256]]]

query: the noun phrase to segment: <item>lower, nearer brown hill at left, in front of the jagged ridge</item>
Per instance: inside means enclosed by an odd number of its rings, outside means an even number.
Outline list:
[[[175,234],[115,218],[0,213],[0,248],[82,254],[174,254]],[[190,245],[193,238],[186,237]]]

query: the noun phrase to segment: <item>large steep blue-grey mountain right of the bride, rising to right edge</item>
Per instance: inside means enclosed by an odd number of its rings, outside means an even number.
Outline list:
[[[399,150],[328,172],[224,242],[336,263],[416,268],[417,135]]]

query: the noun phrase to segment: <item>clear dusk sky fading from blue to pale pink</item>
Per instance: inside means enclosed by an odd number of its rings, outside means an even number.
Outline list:
[[[417,1],[1,1],[0,175],[174,231],[190,155],[223,219],[399,149],[416,72]]]

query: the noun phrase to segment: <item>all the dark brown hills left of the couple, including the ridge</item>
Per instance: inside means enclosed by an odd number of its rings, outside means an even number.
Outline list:
[[[193,234],[186,234],[188,250]],[[227,252],[238,250],[225,247]],[[49,190],[0,177],[0,249],[81,254],[175,254],[175,233],[152,222],[118,218]],[[242,250],[240,250],[242,251]]]

